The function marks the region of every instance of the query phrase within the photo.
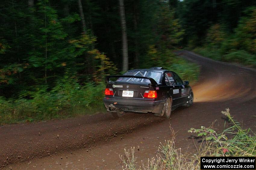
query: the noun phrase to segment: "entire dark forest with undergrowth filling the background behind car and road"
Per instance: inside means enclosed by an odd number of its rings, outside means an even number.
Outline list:
[[[0,124],[104,112],[106,75],[163,66],[195,83],[173,53],[256,67],[256,1],[2,0]]]

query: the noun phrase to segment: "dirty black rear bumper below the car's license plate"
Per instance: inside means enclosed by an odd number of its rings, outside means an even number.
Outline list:
[[[120,108],[124,111],[130,112],[153,112],[161,113],[164,107],[165,100],[132,100],[132,99],[116,99],[105,97],[103,103],[108,111],[110,107]]]

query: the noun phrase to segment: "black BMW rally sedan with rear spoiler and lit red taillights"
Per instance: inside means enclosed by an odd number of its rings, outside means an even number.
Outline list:
[[[155,113],[170,117],[171,110],[191,106],[189,81],[162,67],[129,70],[124,75],[106,76],[104,105],[116,117],[124,112]]]

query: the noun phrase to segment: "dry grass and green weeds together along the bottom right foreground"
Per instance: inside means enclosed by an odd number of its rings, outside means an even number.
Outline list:
[[[229,113],[229,109],[222,111],[228,118],[229,127],[222,133],[217,133],[212,127],[213,124],[201,129],[191,128],[188,132],[202,137],[202,142],[197,153],[192,157],[182,154],[181,149],[175,148],[175,133],[172,131],[172,139],[160,144],[156,157],[148,159],[147,163],[136,168],[134,148],[125,151],[125,156],[120,156],[123,161],[123,170],[185,170],[200,169],[200,157],[255,157],[256,155],[256,134],[250,129],[244,130],[239,122],[235,121]]]

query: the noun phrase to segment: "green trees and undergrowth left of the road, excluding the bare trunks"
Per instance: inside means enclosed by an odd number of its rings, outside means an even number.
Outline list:
[[[105,110],[102,81],[122,63],[118,2],[82,1],[86,33],[76,1],[34,3],[0,4],[0,124]],[[132,0],[125,11],[130,67],[159,64],[196,79],[198,68],[171,52],[185,31],[175,8],[167,1]]]

